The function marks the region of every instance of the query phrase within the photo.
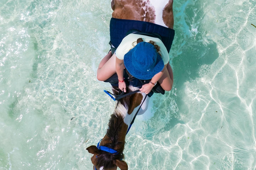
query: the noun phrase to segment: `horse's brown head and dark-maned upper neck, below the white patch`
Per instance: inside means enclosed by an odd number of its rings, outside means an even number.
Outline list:
[[[127,170],[128,165],[124,159],[124,139],[127,125],[123,123],[123,117],[120,114],[112,114],[109,120],[106,135],[98,146],[89,146],[86,148],[89,153],[92,153],[91,158],[94,165],[94,170],[116,170],[119,167],[121,170]]]

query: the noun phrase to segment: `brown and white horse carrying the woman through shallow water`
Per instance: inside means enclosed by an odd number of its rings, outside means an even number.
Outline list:
[[[158,24],[173,29],[173,0],[112,0],[112,17],[117,19],[138,20]],[[129,86],[127,92],[135,91],[138,88]],[[118,94],[118,88],[113,88],[113,92]],[[127,170],[128,166],[124,158],[123,150],[125,136],[131,121],[144,100],[145,93],[135,93],[118,101],[114,113],[109,121],[109,128],[106,135],[99,143],[100,146],[114,149],[117,153],[109,153],[99,150],[97,146],[89,146],[89,153],[94,164],[94,170]],[[147,110],[149,98],[143,103],[138,115]]]

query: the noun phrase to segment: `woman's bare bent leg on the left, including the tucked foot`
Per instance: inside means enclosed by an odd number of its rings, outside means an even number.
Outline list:
[[[109,58],[110,57],[110,58]],[[111,56],[111,51],[101,60],[98,70],[97,79],[105,81],[116,73],[116,55]]]

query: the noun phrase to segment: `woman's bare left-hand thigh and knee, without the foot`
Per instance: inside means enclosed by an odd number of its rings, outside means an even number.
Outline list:
[[[112,55],[110,59],[97,70],[97,79],[105,81],[116,73],[116,55]]]

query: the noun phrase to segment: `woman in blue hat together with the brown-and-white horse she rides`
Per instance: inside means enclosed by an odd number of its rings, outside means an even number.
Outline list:
[[[126,87],[123,77],[126,68],[131,76],[150,81],[140,88],[140,93],[118,101],[106,135],[97,146],[87,148],[89,153],[94,154],[91,158],[94,170],[128,169],[123,161],[123,150],[134,115],[147,110],[143,102],[145,100],[148,104],[146,94],[157,82],[166,91],[172,88],[173,73],[168,55],[174,38],[172,4],[172,0],[111,2],[114,12],[110,21],[110,44],[116,50],[113,54],[109,51],[100,62],[97,79],[105,81],[117,73],[118,88],[124,92],[135,91],[138,88]],[[115,95],[119,94],[118,88],[113,87]]]

